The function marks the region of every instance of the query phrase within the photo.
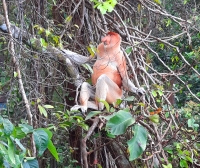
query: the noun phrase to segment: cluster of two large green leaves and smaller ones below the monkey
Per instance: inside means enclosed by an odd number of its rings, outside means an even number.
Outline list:
[[[109,105],[106,102],[103,103],[109,111]],[[92,111],[86,116],[86,120],[101,113],[100,111]],[[147,145],[147,131],[143,126],[135,123],[135,118],[132,116],[130,109],[119,110],[113,112],[111,115],[100,115],[99,117],[107,120],[105,130],[107,131],[107,136],[110,138],[123,135],[127,130],[131,130],[132,134],[134,134],[127,141],[130,161],[137,159],[144,152]]]

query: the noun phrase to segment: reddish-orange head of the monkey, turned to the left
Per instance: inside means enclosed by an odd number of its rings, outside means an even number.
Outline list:
[[[119,47],[121,44],[121,37],[118,33],[108,32],[106,36],[101,39],[101,42],[106,48]]]

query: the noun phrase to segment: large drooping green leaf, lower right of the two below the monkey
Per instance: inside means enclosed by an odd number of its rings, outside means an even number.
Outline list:
[[[129,160],[137,159],[146,149],[147,131],[141,125],[134,126],[134,137],[127,142],[128,151],[130,152]]]

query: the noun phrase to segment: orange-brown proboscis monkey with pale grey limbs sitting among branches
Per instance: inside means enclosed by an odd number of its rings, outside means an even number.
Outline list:
[[[88,108],[103,110],[105,100],[113,104],[123,95],[122,86],[133,92],[144,94],[143,88],[137,88],[130,81],[127,74],[126,60],[120,49],[121,37],[114,32],[108,32],[97,47],[97,60],[93,66],[92,84],[84,82],[80,91],[80,105],[75,105],[71,110],[81,109],[83,113]],[[89,98],[95,102],[88,101]]]

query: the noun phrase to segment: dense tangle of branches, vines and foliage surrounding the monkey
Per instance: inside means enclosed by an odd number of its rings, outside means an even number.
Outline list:
[[[2,0],[0,165],[200,166],[199,6]],[[126,92],[117,102],[123,108],[102,101],[103,112],[86,116],[70,111],[77,83],[91,82],[96,46],[109,30],[121,35],[129,76],[146,95]],[[80,63],[83,57],[77,61],[68,50],[93,60]]]

